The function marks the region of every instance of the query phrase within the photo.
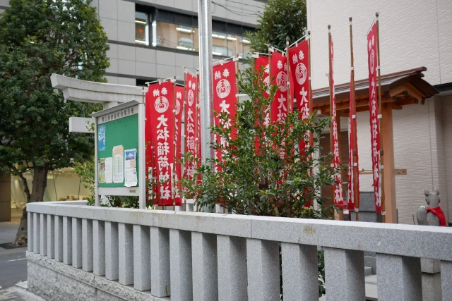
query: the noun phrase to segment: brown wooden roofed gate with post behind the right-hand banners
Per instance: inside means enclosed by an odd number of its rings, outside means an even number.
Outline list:
[[[408,106],[410,104],[424,104],[425,99],[438,93],[432,85],[422,79],[424,77],[422,72],[424,71],[427,71],[427,68],[421,67],[398,73],[381,75],[381,114],[383,116],[383,126],[381,131],[383,133],[383,177],[386,197],[387,223],[397,223],[396,177],[393,145],[393,110],[401,110],[403,109],[403,106]],[[355,94],[357,112],[369,111],[368,79],[355,81]],[[350,82],[342,85],[335,85],[335,98],[338,116],[348,117],[350,114]],[[329,116],[329,99],[329,87],[314,90],[314,110],[320,111],[321,115]],[[338,128],[340,128],[340,125],[338,125]]]

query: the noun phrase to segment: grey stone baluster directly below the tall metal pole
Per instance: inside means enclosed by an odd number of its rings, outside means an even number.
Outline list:
[[[218,300],[217,236],[191,233],[193,300]]]

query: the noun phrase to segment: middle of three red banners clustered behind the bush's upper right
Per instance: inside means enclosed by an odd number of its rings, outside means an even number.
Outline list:
[[[270,77],[274,78],[272,84],[278,85],[275,98],[271,103],[270,122],[285,123],[289,102],[287,101],[287,59],[278,51],[271,54]]]

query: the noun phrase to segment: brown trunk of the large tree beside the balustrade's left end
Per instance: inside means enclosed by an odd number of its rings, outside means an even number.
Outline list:
[[[49,172],[49,167],[47,166],[35,166],[33,167],[33,181],[32,181],[32,190],[30,194],[30,199],[28,202],[42,202],[44,199],[44,191],[47,187],[47,173]],[[22,219],[20,219],[19,228],[16,234],[16,240],[12,243],[12,245],[16,246],[24,246],[27,245],[28,238],[28,214],[27,207],[23,209]]]

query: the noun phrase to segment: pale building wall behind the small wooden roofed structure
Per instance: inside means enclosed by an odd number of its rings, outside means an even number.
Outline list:
[[[393,143],[399,223],[412,224],[425,204],[424,188],[440,190],[441,207],[452,222],[452,1],[307,1],[311,30],[313,89],[328,87],[328,25],[334,42],[335,83],[350,81],[350,28],[353,18],[355,80],[367,78],[367,30],[379,12],[381,74],[427,67],[425,80],[439,94],[425,104],[393,111]],[[369,112],[357,114],[359,168],[371,169]],[[372,191],[371,175],[359,177]]]

